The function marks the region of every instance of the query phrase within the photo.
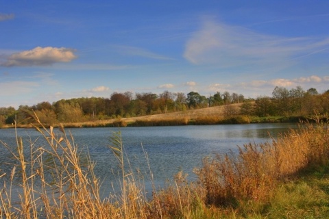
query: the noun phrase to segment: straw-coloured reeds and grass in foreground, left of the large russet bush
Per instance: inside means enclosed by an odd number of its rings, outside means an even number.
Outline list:
[[[175,210],[179,215],[183,209],[189,209],[184,206],[191,200],[186,199],[189,188],[180,182],[167,193],[156,192],[154,186],[153,201],[147,198],[143,181],[137,179],[141,177],[135,175],[125,157],[120,133],[113,133],[110,146],[121,167],[120,191],[102,199],[101,182],[93,171],[95,164],[88,156],[84,157],[73,136],[63,127],[61,133],[55,133],[53,127],[47,129],[36,116],[35,119],[34,127],[47,144],[23,145],[17,134],[15,149],[1,142],[14,161],[10,176],[0,174],[4,183],[0,192],[0,218],[167,218],[175,208],[179,209]],[[147,160],[146,153],[145,157]],[[87,166],[82,164],[82,159],[88,159]],[[19,187],[17,202],[12,195],[14,184]],[[175,204],[169,203],[172,206],[168,207],[167,198],[175,200]]]

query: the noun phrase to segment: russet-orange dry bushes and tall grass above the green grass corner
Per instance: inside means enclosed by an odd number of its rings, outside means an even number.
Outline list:
[[[278,181],[328,164],[328,127],[308,124],[271,143],[245,144],[239,155],[204,159],[195,172],[206,191],[205,203],[234,206],[246,200],[266,201]]]

